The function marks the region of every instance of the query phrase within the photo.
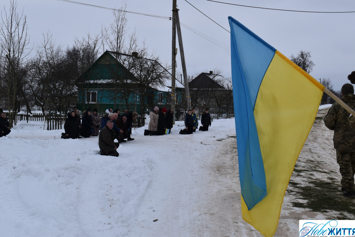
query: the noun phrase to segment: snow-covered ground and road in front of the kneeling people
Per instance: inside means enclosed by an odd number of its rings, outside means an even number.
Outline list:
[[[317,126],[297,163],[321,156],[339,178],[333,132]],[[183,122],[163,136],[143,136],[147,127],[109,157],[98,137],[64,140],[64,130],[19,121],[0,138],[0,236],[261,236],[240,213],[234,119],[191,135],[179,134]],[[297,233],[299,219],[332,218],[295,199],[288,190],[275,236]]]

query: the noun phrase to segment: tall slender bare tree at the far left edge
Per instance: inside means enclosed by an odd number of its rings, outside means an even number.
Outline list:
[[[2,63],[6,68],[7,79],[7,99],[9,108],[9,122],[12,126],[15,120],[15,111],[19,108],[19,98],[23,94],[23,82],[20,80],[20,68],[26,63],[27,57],[31,52],[28,49],[29,36],[27,35],[26,15],[18,14],[17,2],[10,0],[10,8],[1,11],[0,24],[0,48],[5,54],[5,62]],[[4,85],[4,84],[2,84]]]

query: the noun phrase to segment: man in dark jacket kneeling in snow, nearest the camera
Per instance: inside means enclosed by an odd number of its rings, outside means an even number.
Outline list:
[[[100,155],[103,156],[119,156],[116,151],[120,145],[118,142],[114,142],[116,134],[113,128],[113,122],[107,121],[107,124],[100,130],[99,134],[99,147]]]

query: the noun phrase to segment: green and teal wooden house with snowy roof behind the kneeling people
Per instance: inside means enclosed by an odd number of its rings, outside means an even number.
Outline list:
[[[149,80],[164,83],[157,85]],[[177,80],[175,85],[176,104],[179,104],[184,86]],[[111,107],[144,114],[155,106],[171,107],[170,72],[156,60],[140,58],[137,53],[104,52],[78,77],[76,86],[77,107],[81,111],[97,108],[102,113]]]

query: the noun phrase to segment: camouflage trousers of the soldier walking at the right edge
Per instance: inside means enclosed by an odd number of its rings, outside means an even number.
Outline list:
[[[347,192],[354,192],[355,152],[337,150],[337,162],[339,164],[340,174],[342,175],[342,187]]]

